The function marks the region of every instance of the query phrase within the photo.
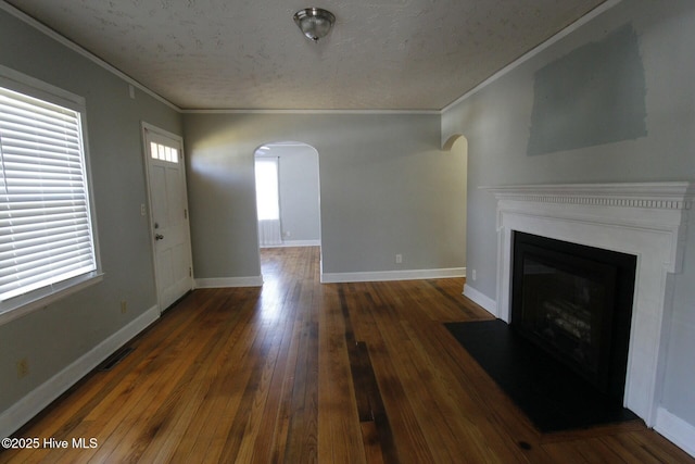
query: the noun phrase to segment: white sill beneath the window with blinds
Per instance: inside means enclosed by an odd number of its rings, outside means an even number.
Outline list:
[[[0,326],[48,306],[103,280],[104,275],[93,272],[61,283],[59,288],[37,290],[29,294],[0,303]]]

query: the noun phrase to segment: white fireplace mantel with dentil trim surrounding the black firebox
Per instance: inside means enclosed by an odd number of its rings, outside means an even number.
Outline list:
[[[682,183],[482,187],[497,199],[497,301],[510,318],[515,230],[637,256],[623,404],[654,426],[662,384],[670,302],[680,272],[693,186]]]

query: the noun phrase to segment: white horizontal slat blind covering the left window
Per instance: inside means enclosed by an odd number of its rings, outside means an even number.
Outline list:
[[[80,113],[0,87],[0,301],[97,269]]]

